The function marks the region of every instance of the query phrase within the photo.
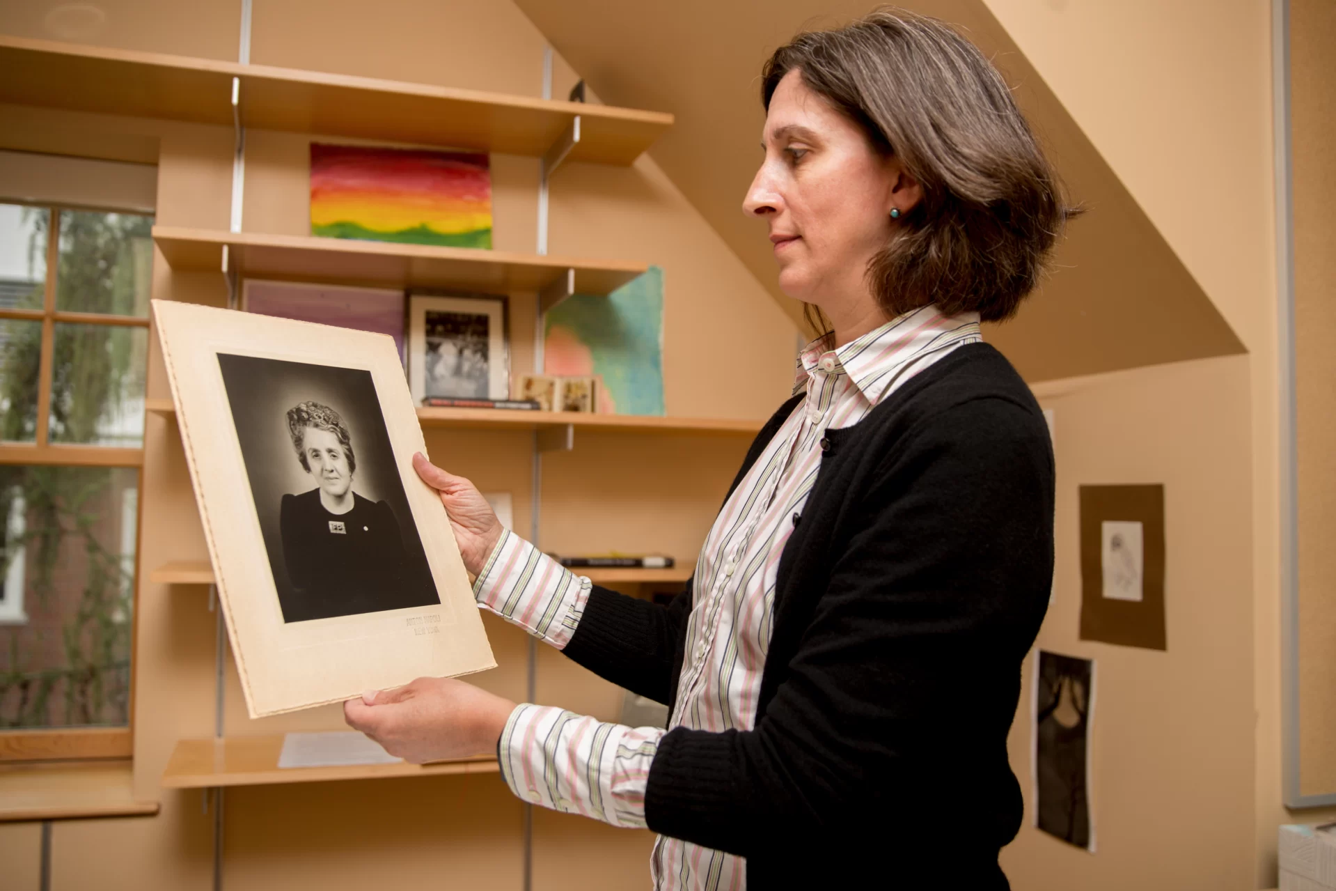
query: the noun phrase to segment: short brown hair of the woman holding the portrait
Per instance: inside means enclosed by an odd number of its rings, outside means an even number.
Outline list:
[[[927,304],[985,321],[1015,314],[1074,211],[983,54],[937,19],[882,7],[776,50],[762,71],[767,110],[790,71],[923,189],[868,264],[882,308],[892,317]]]

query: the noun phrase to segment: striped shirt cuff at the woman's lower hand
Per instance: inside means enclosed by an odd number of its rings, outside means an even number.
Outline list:
[[[665,733],[525,702],[506,721],[497,760],[525,801],[643,829],[649,765]]]

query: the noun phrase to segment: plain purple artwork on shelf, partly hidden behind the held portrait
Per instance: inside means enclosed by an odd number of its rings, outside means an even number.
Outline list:
[[[243,309],[389,334],[405,361],[402,290],[248,280]]]

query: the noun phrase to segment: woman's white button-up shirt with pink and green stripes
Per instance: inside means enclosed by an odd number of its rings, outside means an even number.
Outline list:
[[[911,376],[981,340],[977,314],[934,306],[906,313],[832,351],[810,344],[794,393],[804,392],[728,498],[696,561],[695,597],[669,726],[751,729],[770,648],[779,557],[820,466],[828,428],[856,424]],[[564,648],[589,597],[574,575],[506,531],[474,585],[478,605]],[[620,827],[645,825],[645,784],[663,728],[632,728],[524,704],[501,734],[501,773],[526,801]],[[741,888],[744,862],[660,836],[656,888]]]

